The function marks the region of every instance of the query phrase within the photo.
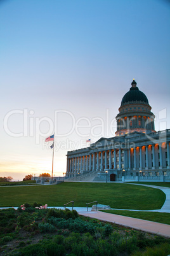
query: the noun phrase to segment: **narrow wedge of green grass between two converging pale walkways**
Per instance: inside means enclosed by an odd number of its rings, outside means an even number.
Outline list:
[[[170,213],[155,213],[148,211],[120,211],[120,210],[103,210],[105,213],[112,213],[132,218],[140,218],[142,220],[150,220],[170,225]]]

